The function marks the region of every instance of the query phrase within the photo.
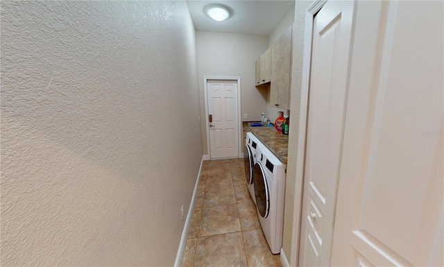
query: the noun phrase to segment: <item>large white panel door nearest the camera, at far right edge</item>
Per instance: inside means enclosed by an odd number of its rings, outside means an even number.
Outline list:
[[[331,263],[443,266],[443,1],[359,2],[354,47]]]

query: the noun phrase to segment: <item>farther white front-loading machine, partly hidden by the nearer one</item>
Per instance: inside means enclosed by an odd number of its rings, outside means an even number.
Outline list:
[[[248,191],[250,192],[250,196],[253,199],[253,202],[256,204],[255,199],[255,187],[253,185],[253,169],[256,164],[256,150],[257,144],[259,140],[253,132],[247,132],[245,139],[245,147],[244,147],[244,164],[245,164],[245,176],[247,180]]]

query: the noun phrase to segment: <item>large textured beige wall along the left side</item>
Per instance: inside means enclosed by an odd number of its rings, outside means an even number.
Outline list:
[[[185,1],[1,1],[1,266],[173,266],[195,41]]]

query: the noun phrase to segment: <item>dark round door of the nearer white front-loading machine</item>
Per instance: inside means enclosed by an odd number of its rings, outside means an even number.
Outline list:
[[[268,190],[264,168],[260,162],[256,162],[253,169],[253,182],[255,184],[257,211],[262,218],[266,218],[268,212],[270,212],[270,191]]]

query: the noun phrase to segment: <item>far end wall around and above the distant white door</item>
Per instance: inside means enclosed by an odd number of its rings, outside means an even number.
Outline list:
[[[260,121],[266,110],[266,89],[255,87],[255,62],[268,48],[265,35],[196,31],[202,146],[207,154],[204,76],[241,77],[242,121]],[[244,119],[244,114],[248,119]],[[243,148],[241,148],[243,150]]]

